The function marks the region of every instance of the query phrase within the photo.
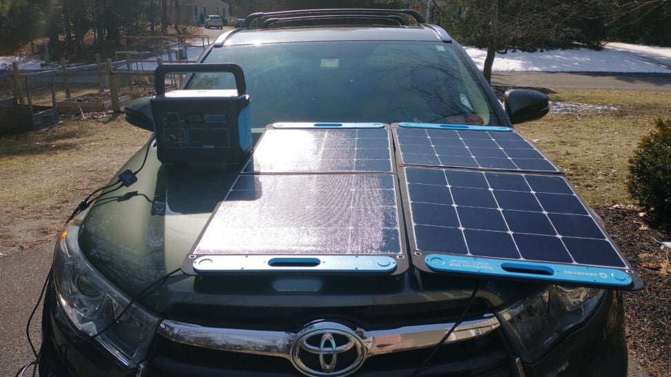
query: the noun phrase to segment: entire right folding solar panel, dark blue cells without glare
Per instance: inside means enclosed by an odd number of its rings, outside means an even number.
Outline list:
[[[396,127],[409,251],[418,269],[643,286],[561,170],[517,132]]]

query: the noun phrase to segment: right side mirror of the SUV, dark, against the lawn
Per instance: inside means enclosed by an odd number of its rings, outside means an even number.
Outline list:
[[[505,112],[513,124],[535,121],[550,111],[550,99],[536,90],[509,89],[504,97]]]

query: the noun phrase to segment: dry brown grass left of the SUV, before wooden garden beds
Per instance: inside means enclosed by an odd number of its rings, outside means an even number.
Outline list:
[[[53,128],[0,136],[0,253],[50,241],[79,202],[146,143],[123,114],[64,116]]]

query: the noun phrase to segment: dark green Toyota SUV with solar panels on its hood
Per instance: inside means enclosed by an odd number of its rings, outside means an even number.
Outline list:
[[[198,62],[61,234],[41,376],[625,376],[641,282],[512,128],[544,94],[412,10],[251,14]]]

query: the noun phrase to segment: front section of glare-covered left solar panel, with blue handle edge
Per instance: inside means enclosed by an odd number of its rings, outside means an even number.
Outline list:
[[[241,174],[185,272],[407,269],[393,174]]]

